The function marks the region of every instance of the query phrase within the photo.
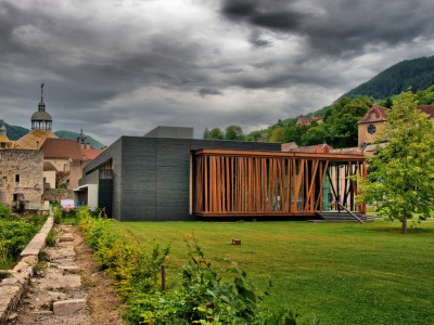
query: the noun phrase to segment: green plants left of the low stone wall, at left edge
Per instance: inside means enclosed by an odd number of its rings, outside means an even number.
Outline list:
[[[43,222],[41,216],[12,216],[11,210],[0,204],[0,269],[12,265]]]

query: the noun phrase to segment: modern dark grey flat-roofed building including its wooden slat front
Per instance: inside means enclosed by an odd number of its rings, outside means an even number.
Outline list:
[[[284,153],[279,143],[192,134],[158,127],[119,138],[85,167],[75,200],[119,221],[315,216],[329,200],[328,183],[333,197],[356,208],[355,181],[334,188],[326,180],[342,167],[341,176],[363,174],[361,154]]]

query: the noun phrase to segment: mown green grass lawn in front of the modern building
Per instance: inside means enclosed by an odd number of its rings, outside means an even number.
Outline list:
[[[399,233],[397,222],[123,222],[143,242],[170,243],[168,277],[194,235],[214,265],[235,261],[270,309],[297,310],[302,324],[434,324],[434,222]],[[231,245],[239,238],[241,246]]]

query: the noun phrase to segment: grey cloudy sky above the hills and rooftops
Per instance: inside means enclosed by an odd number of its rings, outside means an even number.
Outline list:
[[[432,0],[0,0],[0,119],[105,144],[266,128],[434,54]]]

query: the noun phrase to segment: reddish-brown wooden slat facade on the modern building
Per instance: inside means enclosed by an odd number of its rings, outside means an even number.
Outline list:
[[[312,216],[331,200],[365,212],[348,180],[366,177],[363,155],[199,150],[193,166],[200,217]]]

